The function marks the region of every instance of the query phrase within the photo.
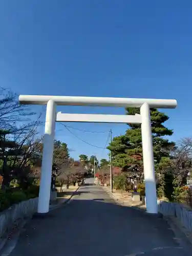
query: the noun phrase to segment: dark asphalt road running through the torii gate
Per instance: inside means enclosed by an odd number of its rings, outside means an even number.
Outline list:
[[[86,183],[92,182],[88,179]],[[101,187],[87,185],[79,188],[68,205],[53,210],[49,218],[32,219],[9,255],[143,254],[189,255],[191,246],[163,219],[117,205]]]

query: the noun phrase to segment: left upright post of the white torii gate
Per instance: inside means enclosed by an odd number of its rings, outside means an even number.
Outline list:
[[[42,152],[40,190],[37,209],[39,214],[45,214],[49,211],[55,119],[56,104],[53,100],[49,100],[47,103],[44,148]]]

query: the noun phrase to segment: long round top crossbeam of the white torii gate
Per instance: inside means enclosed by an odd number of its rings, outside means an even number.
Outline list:
[[[138,98],[109,98],[109,97],[78,97],[78,96],[48,96],[48,95],[19,95],[20,104],[45,105],[53,100],[57,105],[73,106],[118,106],[126,108],[140,107],[148,103],[150,108],[175,109],[175,99],[138,99]]]

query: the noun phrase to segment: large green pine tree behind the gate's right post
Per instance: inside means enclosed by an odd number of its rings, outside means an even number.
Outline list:
[[[140,114],[139,108],[127,108],[127,115]],[[157,109],[151,109],[151,126],[154,147],[154,160],[156,164],[160,163],[162,158],[168,158],[170,147],[174,146],[174,142],[164,139],[165,135],[172,135],[173,130],[167,129],[163,123],[168,120],[168,116]],[[140,164],[141,159],[137,159],[135,155],[142,157],[142,136],[141,124],[129,124],[129,129],[124,136],[115,137],[108,147],[113,154],[113,163],[119,167],[128,167],[131,164]]]

